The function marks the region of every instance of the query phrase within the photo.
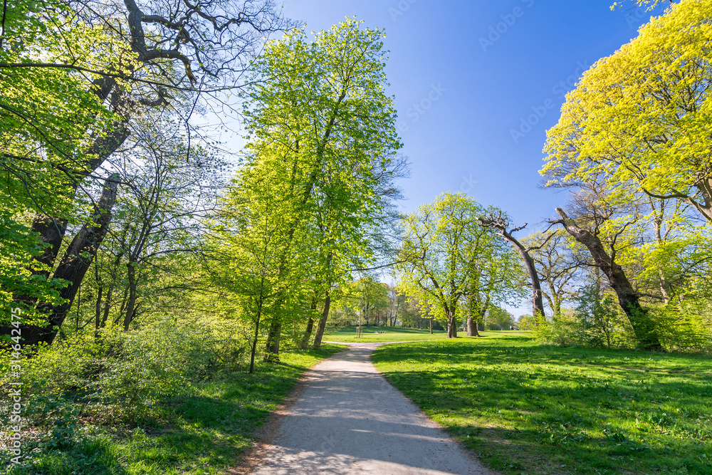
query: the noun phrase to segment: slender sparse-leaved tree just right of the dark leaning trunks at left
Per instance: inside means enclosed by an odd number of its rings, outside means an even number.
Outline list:
[[[160,262],[199,252],[199,218],[214,209],[225,165],[199,143],[185,143],[184,127],[172,118],[151,114],[132,134],[130,152],[122,154],[125,185],[110,241],[112,254],[122,256],[126,269],[125,330],[135,319],[140,286],[161,272]]]

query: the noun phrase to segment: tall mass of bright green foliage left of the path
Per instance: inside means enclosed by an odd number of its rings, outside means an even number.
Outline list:
[[[365,231],[384,219],[403,165],[383,36],[353,19],[311,42],[295,30],[251,67],[246,159],[213,216],[204,276],[253,345],[269,328],[276,348],[282,324],[314,318],[351,263],[373,259]]]

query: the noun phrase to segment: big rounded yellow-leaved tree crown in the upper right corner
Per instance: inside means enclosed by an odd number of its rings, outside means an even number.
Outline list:
[[[634,189],[712,221],[711,18],[706,0],[672,4],[584,74],[548,131],[550,184],[601,176],[619,201]]]

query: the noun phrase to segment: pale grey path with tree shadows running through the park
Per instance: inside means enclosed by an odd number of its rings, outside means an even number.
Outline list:
[[[492,473],[377,372],[382,344],[352,343],[307,373],[253,474]]]

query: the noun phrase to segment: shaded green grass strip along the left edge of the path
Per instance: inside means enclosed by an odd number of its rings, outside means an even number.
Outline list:
[[[320,351],[283,353],[281,364],[258,365],[254,375],[235,372],[221,380],[195,383],[184,395],[155,407],[140,427],[84,427],[83,437],[74,437],[62,447],[43,448],[33,454],[32,464],[9,473],[227,473],[251,446],[256,429],[293,390],[300,374],[343,348],[325,344]]]

